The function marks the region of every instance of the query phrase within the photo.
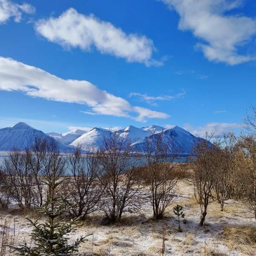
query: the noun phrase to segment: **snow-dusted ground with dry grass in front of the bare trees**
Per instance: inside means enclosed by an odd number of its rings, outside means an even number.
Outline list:
[[[177,218],[172,211],[175,204],[184,208],[185,219],[181,221],[182,232],[177,230]],[[252,229],[255,232],[254,219],[241,218],[234,215],[240,207],[239,202],[230,200],[224,205],[224,212],[220,211],[217,203],[209,206],[205,227],[198,225],[200,207],[193,195],[193,186],[187,181],[179,183],[179,194],[173,204],[167,209],[166,217],[155,224],[149,204],[144,205],[140,215],[124,215],[121,223],[102,225],[101,213],[94,213],[87,221],[81,223],[76,233],[70,236],[74,241],[79,236],[93,234],[80,247],[81,253],[95,253],[93,255],[115,256],[156,256],[162,255],[163,229],[166,230],[164,255],[192,256],[244,256],[256,255],[256,244],[250,239],[239,236],[229,236],[230,230],[236,232]],[[30,218],[35,218],[29,213]],[[29,241],[31,228],[23,215],[17,211],[1,212],[2,224],[7,219],[10,223],[10,238],[14,243]],[[256,237],[256,236],[255,236]]]

